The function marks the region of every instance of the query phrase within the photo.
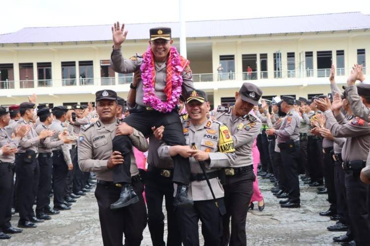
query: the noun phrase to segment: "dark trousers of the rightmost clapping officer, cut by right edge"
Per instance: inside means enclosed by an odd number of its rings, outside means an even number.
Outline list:
[[[360,171],[361,170],[344,170],[348,217],[356,246],[369,246],[369,185],[360,180]]]

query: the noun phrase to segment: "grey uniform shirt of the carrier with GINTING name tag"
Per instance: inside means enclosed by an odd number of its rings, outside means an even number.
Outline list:
[[[112,140],[119,123],[118,118],[115,118],[111,124],[103,124],[98,120],[94,124],[81,128],[77,148],[78,166],[84,172],[94,172],[98,180],[113,181],[113,170],[108,169],[107,164],[113,149]],[[134,129],[129,138],[139,151],[148,150],[148,141],[141,132]],[[131,151],[130,172],[131,176],[139,174],[133,151]]]

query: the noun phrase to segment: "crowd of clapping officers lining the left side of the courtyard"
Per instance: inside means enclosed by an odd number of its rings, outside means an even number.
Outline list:
[[[94,175],[79,169],[76,152],[80,126],[96,120],[89,107],[36,106],[36,95],[0,107],[0,239],[22,232],[10,224],[15,212],[18,227],[36,228],[71,210],[95,185]]]

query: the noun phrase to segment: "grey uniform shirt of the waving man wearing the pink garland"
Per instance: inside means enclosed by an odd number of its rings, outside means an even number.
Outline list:
[[[121,48],[113,49],[111,53],[111,68],[119,73],[131,73],[137,70],[140,70],[140,66],[143,63],[143,58],[141,57],[131,57],[130,59],[124,59],[122,56]],[[167,69],[166,64],[164,62],[161,66],[158,66],[156,63],[155,65],[155,95],[161,100],[166,101],[167,96],[164,93],[164,88],[166,86],[166,76],[167,76]],[[185,70],[183,71],[183,93],[195,90],[193,85],[193,80],[191,76],[191,72],[188,73]],[[136,104],[141,106],[148,106],[143,103],[143,80],[140,79],[138,83],[138,88],[136,90]],[[132,105],[131,105],[132,106]]]

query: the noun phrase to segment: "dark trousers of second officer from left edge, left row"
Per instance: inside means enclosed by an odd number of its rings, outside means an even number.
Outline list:
[[[37,196],[39,167],[37,159],[26,163],[24,157],[24,153],[15,156],[16,192],[19,199],[19,218],[21,221],[30,221],[31,217],[35,216],[32,207]]]

